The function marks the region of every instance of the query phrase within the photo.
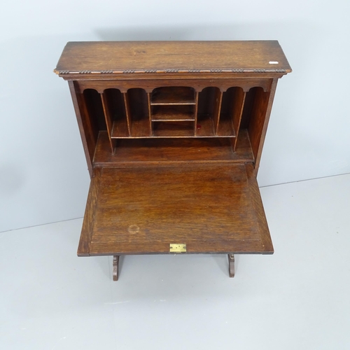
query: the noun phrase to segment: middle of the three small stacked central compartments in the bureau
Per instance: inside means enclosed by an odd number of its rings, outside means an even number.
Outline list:
[[[152,121],[186,121],[195,120],[195,106],[159,105],[152,106]]]

